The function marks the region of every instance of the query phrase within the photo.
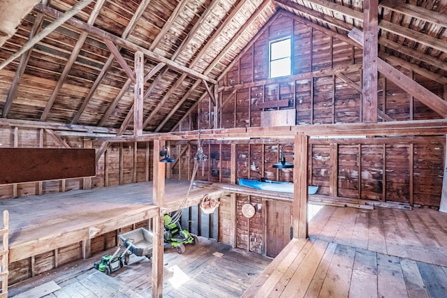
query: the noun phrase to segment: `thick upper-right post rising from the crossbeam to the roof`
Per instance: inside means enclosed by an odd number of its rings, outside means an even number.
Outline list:
[[[379,0],[363,1],[363,118],[377,122],[377,54]]]

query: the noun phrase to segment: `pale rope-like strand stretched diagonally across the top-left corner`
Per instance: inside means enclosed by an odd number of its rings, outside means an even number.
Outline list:
[[[24,52],[27,52],[27,50],[31,49],[31,47],[34,47],[36,43],[41,41],[43,38],[45,38],[48,34],[50,34],[54,29],[59,27],[61,24],[64,24],[69,18],[73,17],[76,13],[79,13],[80,10],[84,9],[85,6],[89,5],[93,0],[80,0],[78,3],[76,3],[70,10],[68,10],[64,15],[61,15],[59,19],[55,20],[51,24],[49,24],[45,29],[43,29],[41,32],[36,34],[33,38],[27,41],[23,45],[23,47],[20,48],[17,52],[12,54],[8,59],[3,61],[2,64],[0,64],[0,70],[5,68],[8,64],[10,64],[12,61],[14,61],[17,57],[20,57],[21,54]]]

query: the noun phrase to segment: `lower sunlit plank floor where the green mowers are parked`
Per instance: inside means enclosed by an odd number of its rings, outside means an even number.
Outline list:
[[[233,249],[214,240],[199,237],[199,241],[198,246],[186,246],[186,252],[182,255],[173,249],[166,249],[163,258],[163,297],[240,297],[272,261],[271,258]],[[221,255],[213,255],[216,252]],[[99,258],[100,255],[94,257]],[[174,272],[170,271],[173,267]],[[129,265],[110,276],[91,267],[78,271],[78,274],[76,268],[59,269],[59,274],[69,274],[71,278],[57,278],[58,275],[52,274],[53,281],[61,281],[58,283],[61,289],[45,297],[141,298],[151,295],[152,263],[145,257],[131,255]],[[178,276],[189,279],[179,283]],[[44,279],[31,278],[22,285],[16,285],[12,297],[28,290],[30,287],[27,283],[36,285],[39,281]]]

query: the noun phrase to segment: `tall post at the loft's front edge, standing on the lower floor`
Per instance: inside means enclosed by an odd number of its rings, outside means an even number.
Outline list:
[[[154,204],[162,207],[165,197],[166,163],[160,163],[159,152],[164,142],[154,140]],[[153,218],[154,239],[152,247],[152,297],[162,297],[163,294],[163,214],[161,211]]]

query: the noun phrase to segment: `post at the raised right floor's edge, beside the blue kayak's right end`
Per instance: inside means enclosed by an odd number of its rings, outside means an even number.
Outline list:
[[[295,135],[293,160],[293,238],[306,239],[309,236],[307,227],[307,160],[309,137]]]

